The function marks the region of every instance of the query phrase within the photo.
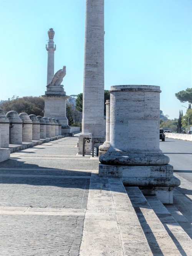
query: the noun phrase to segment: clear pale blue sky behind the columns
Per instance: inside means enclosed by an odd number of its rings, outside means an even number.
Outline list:
[[[47,31],[67,95],[83,92],[86,0],[0,0],[0,100],[46,90]],[[105,89],[158,85],[163,113],[178,118],[192,88],[192,0],[105,0]]]

